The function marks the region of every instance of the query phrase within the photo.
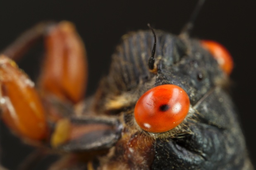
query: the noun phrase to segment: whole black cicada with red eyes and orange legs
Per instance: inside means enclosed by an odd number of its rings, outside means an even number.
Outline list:
[[[15,61],[40,37],[35,84]],[[41,154],[61,156],[49,170],[252,170],[225,90],[232,65],[217,42],[130,32],[84,98],[86,49],[74,25],[41,23],[0,56],[0,116]]]

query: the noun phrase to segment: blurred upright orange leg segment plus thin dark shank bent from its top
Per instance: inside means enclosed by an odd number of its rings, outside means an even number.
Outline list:
[[[44,97],[77,103],[84,98],[87,61],[84,43],[68,21],[43,22],[22,34],[2,54],[19,60],[38,40],[45,40],[45,60],[39,79]]]

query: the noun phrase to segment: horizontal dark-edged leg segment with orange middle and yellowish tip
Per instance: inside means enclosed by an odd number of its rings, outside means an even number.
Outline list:
[[[117,117],[79,116],[61,119],[56,123],[51,145],[67,152],[105,150],[117,142],[122,128]]]

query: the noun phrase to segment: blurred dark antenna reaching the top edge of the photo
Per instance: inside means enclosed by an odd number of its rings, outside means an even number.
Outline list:
[[[191,14],[191,17],[189,19],[189,22],[182,28],[181,31],[181,35],[189,35],[190,31],[193,29],[194,27],[194,22],[196,20],[196,17],[199,14],[200,9],[202,8],[203,4],[204,4],[205,0],[199,0],[196,4],[196,7],[194,9],[194,11]]]

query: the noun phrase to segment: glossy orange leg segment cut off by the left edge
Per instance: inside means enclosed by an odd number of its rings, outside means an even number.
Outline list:
[[[4,55],[0,56],[0,105],[3,121],[15,133],[29,140],[45,139],[45,111],[34,84]]]

